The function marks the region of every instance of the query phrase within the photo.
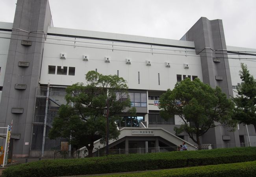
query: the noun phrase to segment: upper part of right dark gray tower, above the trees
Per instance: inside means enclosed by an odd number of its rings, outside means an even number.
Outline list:
[[[219,86],[228,97],[233,96],[222,20],[201,17],[187,31],[186,40],[195,42],[196,53],[201,56],[204,83],[213,88]],[[221,62],[213,62],[213,57],[219,57]],[[223,80],[216,80],[215,76],[222,76]]]

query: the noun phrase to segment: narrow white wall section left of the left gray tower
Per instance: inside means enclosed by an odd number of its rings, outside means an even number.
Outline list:
[[[7,22],[0,22],[0,29],[11,30],[13,24]],[[9,44],[11,31],[1,31],[0,33],[0,87],[4,87],[4,75],[6,72],[6,62],[9,51]],[[1,101],[2,91],[0,90],[0,101]]]

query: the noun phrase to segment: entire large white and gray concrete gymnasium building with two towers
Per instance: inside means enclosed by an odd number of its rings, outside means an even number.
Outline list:
[[[14,22],[0,22],[0,127],[13,120],[13,157],[50,156],[61,149],[61,142],[67,142],[48,138],[52,120],[65,104],[65,87],[86,83],[85,74],[96,70],[126,79],[137,109],[135,117],[123,116],[119,140],[111,141],[110,147],[176,146],[185,140],[193,149],[186,133],[173,135],[174,126],[181,125],[178,116],[168,121],[160,117],[160,95],[177,81],[198,77],[232,97],[241,82],[241,62],[256,77],[255,52],[226,46],[222,20],[202,17],[181,40],[159,39],[56,28],[48,0],[18,0]],[[201,141],[213,148],[240,147],[250,138],[256,146],[253,125],[248,130],[247,134],[246,127],[239,125],[230,133],[216,127]],[[145,135],[146,131],[150,133]]]

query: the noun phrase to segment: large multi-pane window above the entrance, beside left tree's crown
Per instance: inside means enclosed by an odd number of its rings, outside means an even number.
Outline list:
[[[129,92],[131,106],[134,107],[147,107],[147,94]]]

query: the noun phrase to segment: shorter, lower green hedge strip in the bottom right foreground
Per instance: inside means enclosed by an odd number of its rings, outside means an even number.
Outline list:
[[[105,175],[106,177],[254,177],[256,161],[178,168],[170,170]]]

